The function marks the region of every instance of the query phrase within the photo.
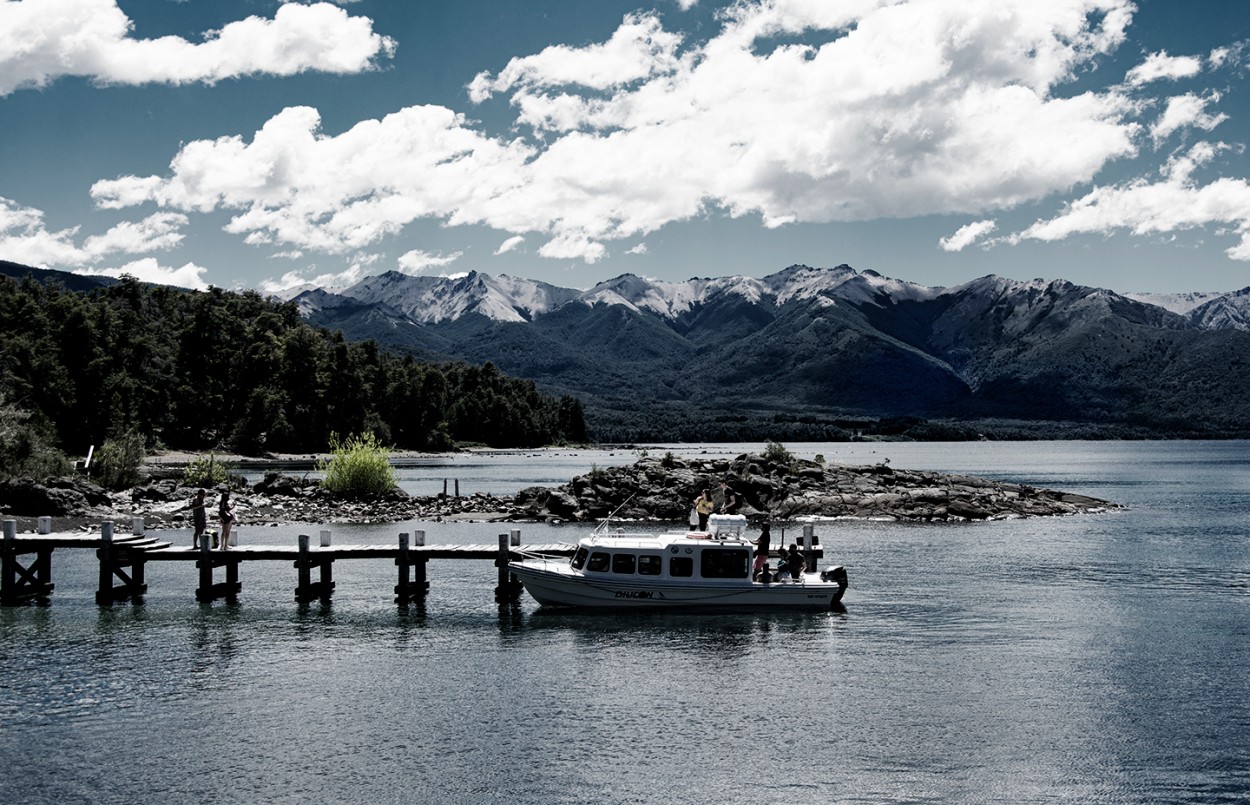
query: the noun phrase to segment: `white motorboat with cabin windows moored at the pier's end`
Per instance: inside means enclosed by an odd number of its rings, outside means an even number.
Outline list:
[[[626,534],[604,524],[578,542],[571,559],[520,551],[508,566],[534,600],[552,606],[829,609],[841,601],[841,566],[751,580],[755,551],[745,528],[741,515],[712,515],[708,531],[671,534]]]

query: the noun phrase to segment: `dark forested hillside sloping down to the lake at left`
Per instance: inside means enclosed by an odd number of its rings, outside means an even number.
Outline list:
[[[404,449],[585,440],[581,402],[491,364],[420,364],[312,328],[255,291],[135,280],[90,292],[0,276],[0,389],[70,454],[134,431],[150,444],[315,451],[372,431]]]

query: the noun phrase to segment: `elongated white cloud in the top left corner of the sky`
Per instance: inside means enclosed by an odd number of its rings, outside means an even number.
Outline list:
[[[395,49],[372,31],[372,20],[329,2],[286,4],[272,19],[229,22],[201,42],[134,39],[131,28],[116,0],[0,2],[0,96],[66,75],[99,84],[212,84],[256,74],[360,72]]]

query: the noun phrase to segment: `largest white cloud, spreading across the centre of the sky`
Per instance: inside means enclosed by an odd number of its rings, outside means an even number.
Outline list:
[[[515,110],[506,136],[441,106],[342,132],[290,108],[250,139],[188,142],[166,175],[92,195],[230,210],[226,230],[249,242],[325,254],[436,219],[508,232],[496,254],[538,234],[539,255],[586,262],[709,214],[764,226],[978,215],[1089,186],[1139,152],[1149,104],[1135,88],[1200,62],[1160,52],[1125,84],[1064,91],[1124,41],[1132,12],[1130,0],[741,0],[701,40],[631,14],[604,42],[478,75],[472,100],[505,95]],[[1152,132],[1218,124],[1216,100],[1169,104]]]

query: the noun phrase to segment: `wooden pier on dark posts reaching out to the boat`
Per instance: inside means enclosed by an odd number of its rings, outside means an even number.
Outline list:
[[[4,546],[0,556],[0,605],[18,606],[30,601],[46,601],[55,589],[52,582],[52,551],[56,549],[94,549],[100,561],[100,584],[95,592],[96,604],[112,605],[116,601],[138,601],[148,591],[144,568],[150,561],[194,562],[199,570],[195,599],[211,602],[225,599],[238,600],[242,591],[239,566],[251,561],[290,561],[296,571],[295,600],[329,601],[334,594],[334,562],[339,560],[390,560],[395,562],[395,601],[405,604],[421,601],[429,592],[426,565],[431,559],[491,560],[498,568],[499,584],[495,600],[511,601],[520,596],[521,584],[508,570],[508,562],[520,559],[521,532],[512,529],[499,535],[498,545],[426,545],[425,531],[400,534],[395,545],[331,545],[330,532],[321,531],[319,545],[312,538],[299,536],[296,545],[235,545],[210,548],[210,539],[200,540],[199,548],[175,546],[169,541],[150,538],[144,532],[142,521],[136,519],[132,532],[115,535],[114,524],[104,522],[99,536],[51,534],[40,519],[40,534],[16,532],[16,521],[4,521]],[[554,542],[529,545],[526,550],[541,554],[571,556],[576,545]],[[224,569],[224,580],[216,579],[216,570]]]

